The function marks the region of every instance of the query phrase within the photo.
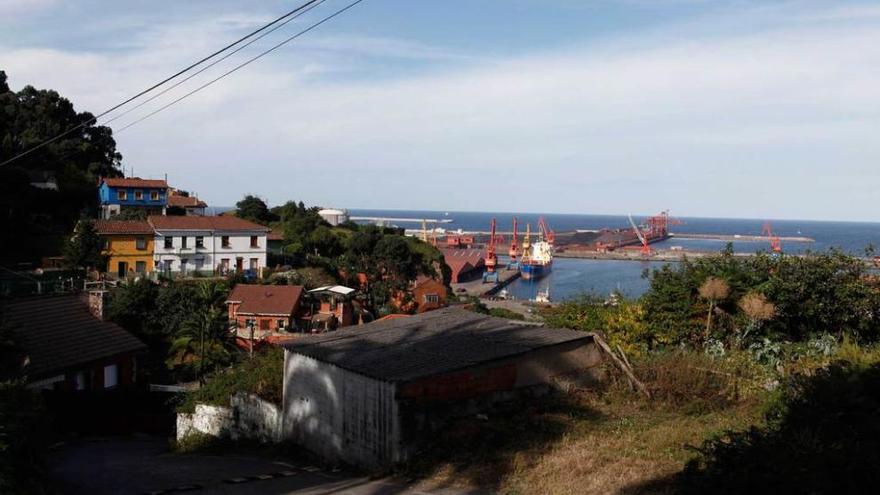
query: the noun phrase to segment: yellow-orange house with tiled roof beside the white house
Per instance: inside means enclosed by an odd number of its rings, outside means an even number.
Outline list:
[[[150,224],[136,220],[98,220],[95,230],[104,240],[108,273],[125,278],[153,271],[154,232]]]

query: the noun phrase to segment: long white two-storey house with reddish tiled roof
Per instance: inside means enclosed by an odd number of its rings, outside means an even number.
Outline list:
[[[225,274],[266,266],[269,229],[237,217],[150,216],[156,270]]]

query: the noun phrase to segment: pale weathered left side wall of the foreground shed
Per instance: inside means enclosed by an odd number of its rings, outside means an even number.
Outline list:
[[[284,370],[285,439],[369,468],[402,460],[392,384],[289,351]]]

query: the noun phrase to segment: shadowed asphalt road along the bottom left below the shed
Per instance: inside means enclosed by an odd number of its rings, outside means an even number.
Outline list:
[[[175,454],[155,437],[76,440],[53,451],[50,477],[59,494],[351,494],[428,493],[395,480],[279,459],[259,452]],[[431,491],[445,495],[456,489]]]

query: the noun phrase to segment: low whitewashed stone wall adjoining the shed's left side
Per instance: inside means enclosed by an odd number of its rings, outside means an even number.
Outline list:
[[[232,440],[281,441],[281,409],[251,394],[235,394],[227,406],[197,404],[195,412],[178,413],[177,439],[201,433]]]

